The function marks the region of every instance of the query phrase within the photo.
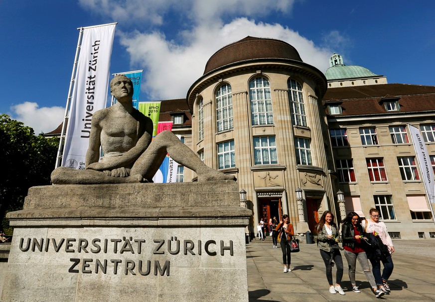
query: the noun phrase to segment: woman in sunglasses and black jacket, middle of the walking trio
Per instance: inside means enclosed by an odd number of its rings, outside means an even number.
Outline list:
[[[356,260],[358,259],[376,298],[384,296],[385,293],[378,290],[375,277],[373,277],[370,271],[369,261],[363,248],[365,233],[361,226],[360,216],[355,212],[350,212],[341,222],[343,223],[341,239],[343,240],[344,256],[349,265],[349,279],[352,283],[352,291],[361,293],[355,282],[355,267]]]

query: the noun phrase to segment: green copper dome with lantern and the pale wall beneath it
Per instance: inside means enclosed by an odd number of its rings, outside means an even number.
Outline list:
[[[330,88],[387,84],[386,77],[374,74],[365,67],[344,65],[342,57],[336,53],[331,56],[329,66],[325,77]]]

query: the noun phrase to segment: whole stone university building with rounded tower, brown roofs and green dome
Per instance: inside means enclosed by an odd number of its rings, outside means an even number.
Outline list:
[[[162,101],[160,120],[237,178],[251,233],[283,214],[298,234],[315,233],[325,210],[339,222],[376,207],[392,237],[435,238],[409,134],[420,129],[435,167],[435,87],[387,84],[338,54],[330,66],[323,74],[290,44],[248,36],[210,57],[186,99]],[[196,175],[179,167],[177,179]]]

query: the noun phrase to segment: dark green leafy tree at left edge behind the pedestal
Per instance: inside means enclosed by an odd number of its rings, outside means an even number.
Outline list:
[[[27,190],[50,184],[58,146],[59,139],[35,136],[32,128],[0,115],[0,221],[5,232],[12,231],[5,214],[22,209]]]

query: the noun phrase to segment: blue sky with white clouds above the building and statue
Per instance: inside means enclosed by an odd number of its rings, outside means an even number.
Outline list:
[[[322,72],[336,52],[388,83],[434,86],[434,15],[434,1],[0,0],[0,113],[56,128],[77,28],[111,22],[111,74],[144,69],[141,101],[185,98],[208,58],[248,35],[286,41]]]

